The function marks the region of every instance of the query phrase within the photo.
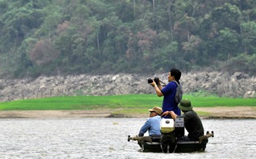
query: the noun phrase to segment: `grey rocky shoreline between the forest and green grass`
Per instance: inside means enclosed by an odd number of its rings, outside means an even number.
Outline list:
[[[0,79],[0,102],[55,96],[154,94],[147,78],[159,77],[164,83],[167,73],[154,75],[115,74],[91,76],[40,76],[39,78]],[[182,73],[184,93],[208,91],[220,97],[255,98],[256,77],[236,72]]]

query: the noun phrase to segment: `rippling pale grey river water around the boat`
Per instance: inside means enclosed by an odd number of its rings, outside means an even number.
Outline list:
[[[256,158],[256,120],[203,119],[205,152],[139,152],[147,118],[0,119],[0,158]]]

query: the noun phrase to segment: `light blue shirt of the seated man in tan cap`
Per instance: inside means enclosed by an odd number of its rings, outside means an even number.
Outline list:
[[[146,123],[139,130],[139,136],[144,136],[144,134],[149,131],[149,135],[160,135],[160,115],[148,118]]]

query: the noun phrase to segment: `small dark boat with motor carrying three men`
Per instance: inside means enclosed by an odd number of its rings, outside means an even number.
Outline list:
[[[170,124],[172,119],[164,119],[162,121],[163,123],[168,123],[168,125],[165,125],[165,127],[161,126],[161,135],[133,137],[128,135],[128,142],[130,140],[138,141],[142,152],[202,152],[206,149],[206,144],[209,141],[208,138],[214,137],[214,131],[212,133],[207,131],[206,135],[199,137],[198,141],[184,141],[179,138],[184,136],[185,132],[184,123],[182,123],[184,122],[183,118],[179,118],[175,121],[175,124]],[[163,139],[165,135],[167,140]]]

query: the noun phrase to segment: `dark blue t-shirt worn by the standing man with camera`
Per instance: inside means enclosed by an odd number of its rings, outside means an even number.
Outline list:
[[[175,93],[176,93],[177,85],[174,82],[169,82],[163,89],[161,90],[163,93],[163,112],[166,111],[174,111],[175,114],[181,115],[181,111],[178,107],[178,103],[175,102]]]

